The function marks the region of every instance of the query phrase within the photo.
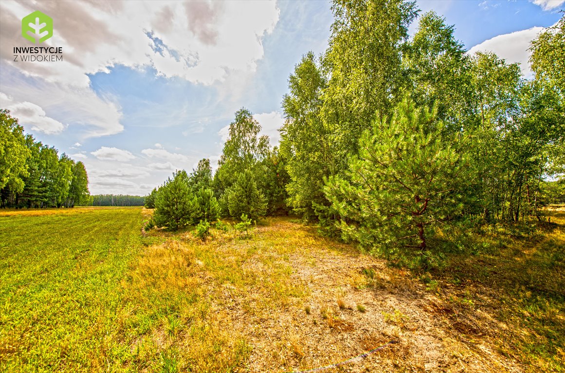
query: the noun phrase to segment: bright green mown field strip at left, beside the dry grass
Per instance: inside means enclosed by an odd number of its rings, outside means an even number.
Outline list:
[[[140,211],[0,216],[1,371],[89,371],[115,359]]]

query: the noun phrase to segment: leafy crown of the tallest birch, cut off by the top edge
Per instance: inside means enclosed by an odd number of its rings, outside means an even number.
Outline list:
[[[334,1],[334,23],[324,67],[331,72],[325,104],[336,109],[356,146],[363,126],[382,119],[401,87],[401,45],[416,17],[405,0]]]

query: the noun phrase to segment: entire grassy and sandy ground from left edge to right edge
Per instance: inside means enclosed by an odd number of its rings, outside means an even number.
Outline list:
[[[202,242],[149,214],[0,212],[0,371],[565,370],[564,208],[431,273],[290,218]]]

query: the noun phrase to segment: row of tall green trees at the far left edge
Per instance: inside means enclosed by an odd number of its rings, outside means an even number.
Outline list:
[[[0,110],[0,207],[73,207],[88,196],[82,162],[35,141],[8,110]]]

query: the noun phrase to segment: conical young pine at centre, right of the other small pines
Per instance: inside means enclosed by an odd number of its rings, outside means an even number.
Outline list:
[[[246,214],[250,219],[257,220],[267,211],[267,201],[255,185],[250,170],[241,173],[226,193],[229,214],[234,218]]]

